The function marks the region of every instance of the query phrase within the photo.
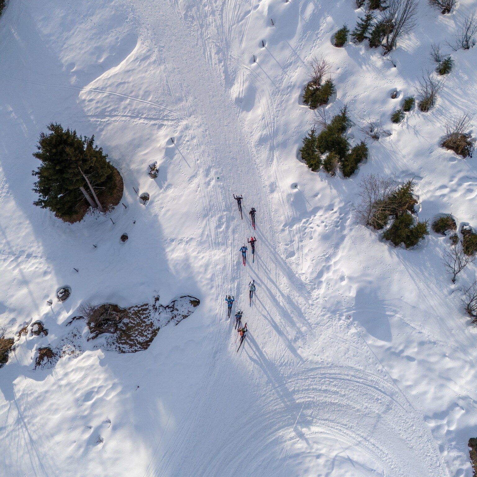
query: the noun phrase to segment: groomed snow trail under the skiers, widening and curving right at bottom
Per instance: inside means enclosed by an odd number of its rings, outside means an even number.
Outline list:
[[[150,467],[157,475],[184,475],[194,469],[194,475],[204,477],[252,476],[263,472],[265,461],[270,470],[267,475],[290,475],[287,472],[291,469],[284,470],[283,461],[277,462],[283,446],[288,446],[289,441],[294,444],[307,441],[312,436],[331,436],[358,448],[386,475],[430,477],[437,466],[445,476],[446,469],[429,430],[422,419],[415,429],[416,411],[400,400],[400,391],[393,383],[369,372],[336,366],[308,369],[303,363],[297,343],[319,340],[313,323],[316,303],[310,303],[311,290],[280,257],[280,239],[263,174],[254,159],[256,153],[250,149],[237,111],[223,90],[222,84],[227,79],[217,77],[214,68],[217,65],[206,54],[213,43],[205,40],[207,22],[204,18],[198,20],[201,7],[192,8],[195,21],[189,17],[187,26],[193,24],[198,29],[191,32],[178,15],[177,4],[173,5],[175,10],[166,2],[156,2],[155,16],[148,16],[139,3],[135,10],[158,61],[167,62],[167,81],[181,109],[180,115],[187,118],[176,144],[179,149],[186,142],[190,145],[188,152],[200,178],[220,306],[203,343],[210,346],[211,371],[207,381],[197,395],[194,410],[163,444],[161,456]],[[216,15],[217,12],[214,17],[217,19]],[[219,23],[220,19],[216,21]],[[204,57],[195,38],[200,39]],[[177,54],[173,45],[179,41],[186,51],[195,53],[187,57]],[[160,50],[156,46],[159,44]],[[220,46],[225,57],[228,45]],[[229,71],[234,64],[231,62],[218,71]],[[258,88],[257,78],[255,87]],[[257,94],[266,111],[263,125],[271,138],[270,127],[273,128],[274,122],[271,96],[266,90],[257,89]],[[277,178],[282,173],[273,159],[273,143],[270,147],[270,165]],[[247,220],[238,217],[233,193],[243,194],[242,207],[258,209],[259,227],[255,233],[261,244],[260,256],[247,267],[242,266],[237,250],[252,228]],[[280,202],[285,216],[290,217],[286,204],[281,199]],[[300,237],[294,242],[300,247]],[[247,283],[252,279],[256,281],[257,291],[249,309],[243,305],[248,299]],[[249,323],[248,337],[239,354],[235,353],[236,332],[231,332],[230,320],[223,319],[223,290],[235,294],[233,312],[245,309],[244,321]],[[333,333],[337,332],[339,328],[333,329]],[[343,341],[346,343],[346,338]],[[334,346],[328,350],[330,354],[333,349]],[[240,362],[231,362],[230,353]],[[239,405],[228,402],[226,389],[236,396]],[[363,409],[368,413],[366,425],[361,418]],[[202,429],[200,433],[196,428]],[[373,438],[377,428],[380,432]],[[392,445],[379,442],[398,429],[401,433]],[[237,441],[240,451],[235,456]],[[427,446],[425,457],[416,452],[413,443],[417,442]],[[197,465],[200,461],[197,456],[205,454],[210,455],[209,459]],[[247,456],[246,467],[242,465],[242,454]]]

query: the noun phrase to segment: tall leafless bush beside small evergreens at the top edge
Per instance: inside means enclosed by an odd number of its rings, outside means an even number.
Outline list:
[[[397,41],[414,30],[418,0],[389,0],[383,12],[384,54],[391,52]]]

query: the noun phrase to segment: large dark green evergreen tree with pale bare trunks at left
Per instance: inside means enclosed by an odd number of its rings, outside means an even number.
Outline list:
[[[33,176],[38,180],[33,191],[40,197],[34,205],[48,208],[58,217],[71,217],[77,206],[87,200],[102,211],[95,189],[112,194],[116,187],[114,167],[103,149],[94,145],[94,136],[78,136],[61,124],[48,125],[50,134],[41,133],[38,151],[33,154],[41,165]]]

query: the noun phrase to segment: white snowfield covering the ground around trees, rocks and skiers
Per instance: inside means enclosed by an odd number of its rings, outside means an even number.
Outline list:
[[[390,121],[434,67],[431,43],[451,41],[475,8],[460,0],[444,16],[422,0],[394,68],[364,43],[332,45],[362,14],[352,0],[10,0],[0,18],[0,324],[18,333],[41,320],[49,334],[21,335],[0,369],[0,474],[472,476],[477,332],[458,288],[475,266],[452,285],[440,261],[448,239],[431,232],[416,249],[394,248],[352,207],[363,176],[395,173],[415,177],[420,219],[452,213],[459,229],[477,228],[476,158],[439,147],[446,115],[476,110],[477,50],[452,53],[431,112]],[[347,103],[355,123],[382,117],[392,132],[369,143],[349,179],[298,159],[315,54],[333,64],[330,113]],[[31,154],[51,121],[94,134],[124,178],[127,208],[69,225],[32,205]],[[357,126],[350,137],[361,140]],[[150,194],[147,206],[134,188]],[[255,262],[243,267],[252,233]],[[64,285],[72,295],[60,303]],[[249,328],[239,353],[226,293]],[[146,351],[102,351],[84,331],[81,355],[34,369],[82,302],[154,295],[200,306]]]

